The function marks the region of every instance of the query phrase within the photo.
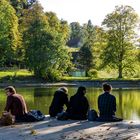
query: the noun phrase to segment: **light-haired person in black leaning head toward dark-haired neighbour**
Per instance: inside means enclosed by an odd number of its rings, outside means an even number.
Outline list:
[[[60,87],[55,93],[52,103],[49,107],[49,114],[51,117],[57,116],[58,113],[63,112],[63,107],[68,107],[68,89],[66,87]]]

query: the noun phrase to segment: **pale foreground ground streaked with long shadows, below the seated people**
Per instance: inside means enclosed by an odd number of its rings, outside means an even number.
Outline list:
[[[0,140],[140,140],[140,122],[58,121],[0,127]]]

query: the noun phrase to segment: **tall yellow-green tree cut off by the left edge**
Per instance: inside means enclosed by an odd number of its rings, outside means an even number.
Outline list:
[[[20,44],[18,18],[6,0],[0,1],[0,65],[11,65]]]

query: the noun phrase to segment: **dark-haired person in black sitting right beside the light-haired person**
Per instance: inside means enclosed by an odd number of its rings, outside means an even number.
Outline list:
[[[87,119],[87,112],[89,109],[89,103],[85,97],[86,88],[80,86],[77,93],[70,98],[69,106],[67,108],[67,114],[70,119],[85,120]]]

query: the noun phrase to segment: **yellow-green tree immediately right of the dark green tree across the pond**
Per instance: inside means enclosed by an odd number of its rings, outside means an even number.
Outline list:
[[[72,66],[71,54],[66,47],[70,29],[67,22],[59,20],[55,13],[47,12],[46,17],[48,19],[51,35],[53,36],[50,54],[54,62],[50,67],[51,69],[48,69],[48,76],[49,74],[51,75],[52,72],[62,76],[62,74],[68,72]]]

